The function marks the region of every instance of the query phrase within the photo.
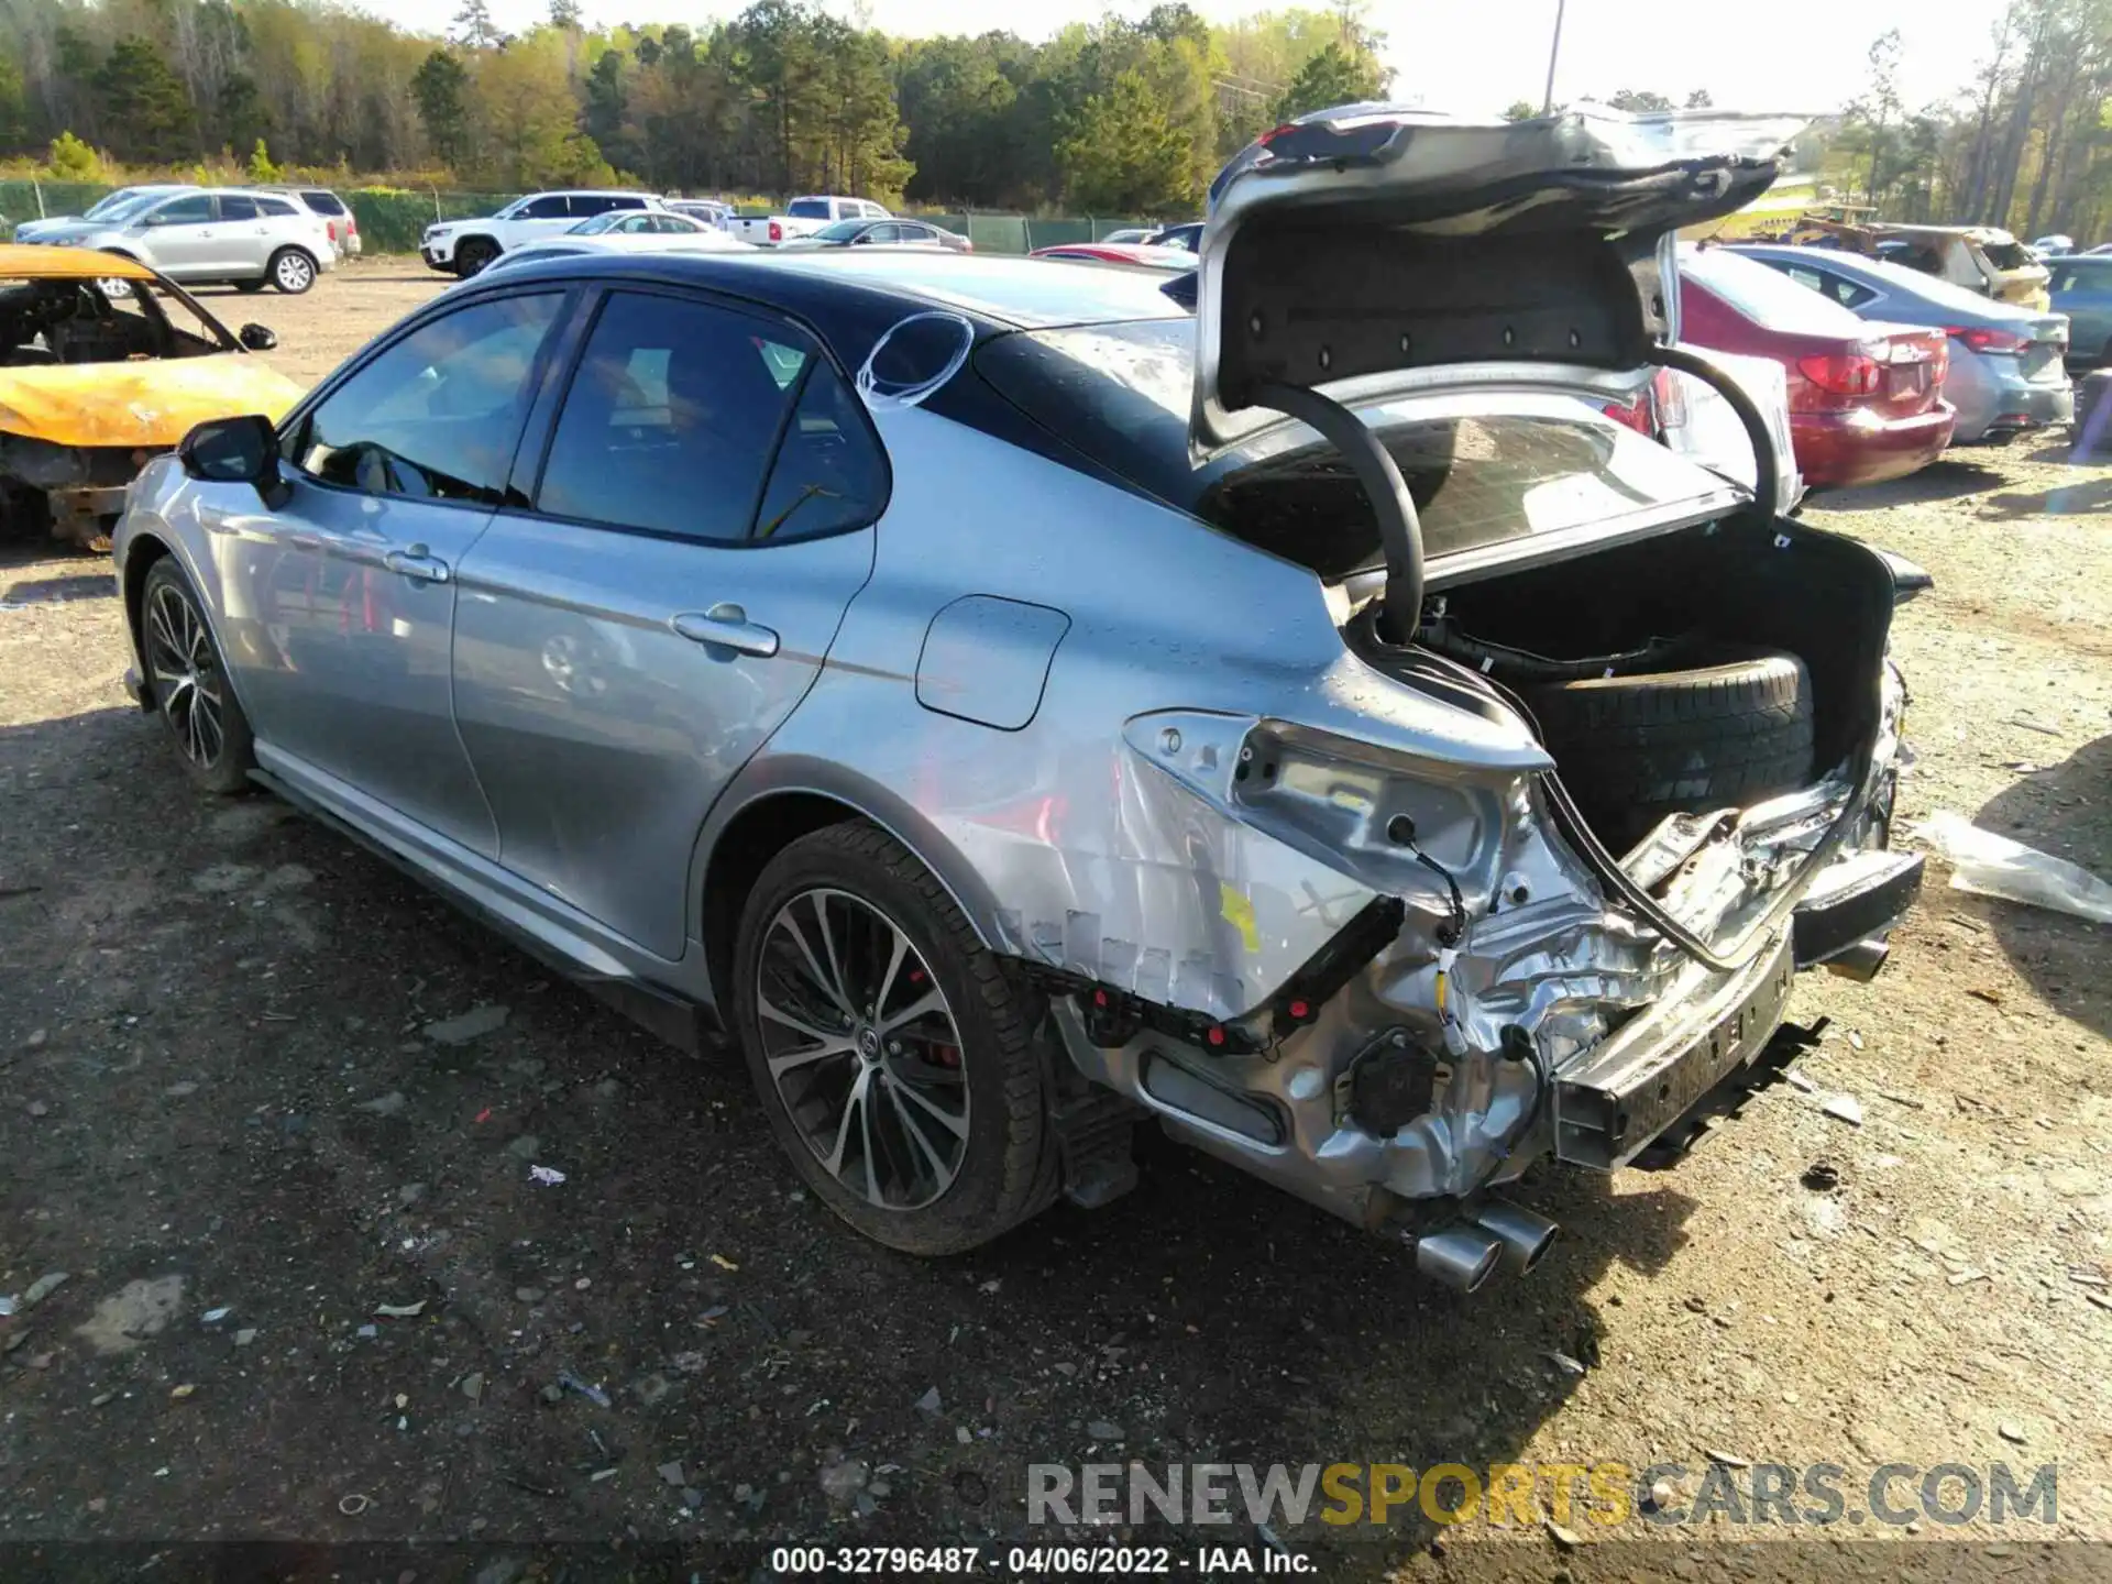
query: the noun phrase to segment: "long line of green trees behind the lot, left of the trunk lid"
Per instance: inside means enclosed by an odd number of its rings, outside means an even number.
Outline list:
[[[0,150],[524,190],[857,192],[1189,213],[1278,118],[1388,87],[1360,0],[1210,25],[1172,0],[1048,42],[889,38],[811,0],[589,30],[577,0],[444,38],[325,0],[0,0]],[[78,139],[78,142],[74,142]]]

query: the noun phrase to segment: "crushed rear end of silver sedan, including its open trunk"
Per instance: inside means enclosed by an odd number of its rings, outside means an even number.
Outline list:
[[[1892,572],[1776,515],[1759,414],[1668,348],[1666,239],[1766,190],[1789,131],[1320,116],[1223,186],[1193,332],[978,357],[1094,463],[1314,572],[1347,650],[1252,716],[1130,718],[1174,803],[1354,889],[1312,895],[1339,927],[1248,999],[1140,991],[1107,921],[1064,931],[1075,1067],[1459,1288],[1554,1236],[1504,1183],[1677,1145],[1793,972],[1873,974],[1920,889],[1886,851]],[[1652,365],[1740,408],[1757,498],[1601,416]],[[1265,642],[1267,612],[1225,615]],[[1174,963],[1267,934],[1221,887]]]

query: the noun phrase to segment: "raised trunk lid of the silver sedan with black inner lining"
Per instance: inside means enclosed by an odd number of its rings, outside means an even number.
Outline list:
[[[1411,370],[1620,389],[1677,336],[1671,239],[1768,190],[1791,116],[1466,122],[1350,106],[1280,127],[1212,186],[1189,450],[1276,406]],[[1611,376],[1611,378],[1609,378]]]

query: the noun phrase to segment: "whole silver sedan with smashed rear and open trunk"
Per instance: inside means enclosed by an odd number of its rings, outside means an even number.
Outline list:
[[[1470,1290],[1884,961],[1901,585],[1673,234],[1795,125],[1358,108],[1132,270],[482,277],[118,530],[142,708],[670,1037],[902,1250],[1170,1134]],[[1172,285],[1185,285],[1176,281]],[[1660,367],[1753,486],[1609,416]]]

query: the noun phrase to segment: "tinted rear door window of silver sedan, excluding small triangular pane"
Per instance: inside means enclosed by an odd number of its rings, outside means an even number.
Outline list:
[[[794,342],[708,302],[610,294],[566,391],[536,509],[676,539],[748,539],[811,361]],[[779,378],[788,365],[792,384]]]

